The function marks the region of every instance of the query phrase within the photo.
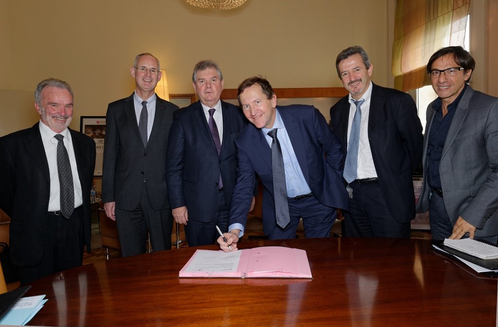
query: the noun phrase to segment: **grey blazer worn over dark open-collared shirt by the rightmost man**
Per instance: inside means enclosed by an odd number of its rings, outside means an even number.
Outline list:
[[[435,113],[432,103],[427,107],[426,134]],[[476,237],[497,235],[498,98],[468,86],[455,110],[439,164],[446,211],[453,225],[461,216],[477,227]],[[427,142],[426,137],[424,171]],[[429,210],[429,192],[424,176],[417,212]]]

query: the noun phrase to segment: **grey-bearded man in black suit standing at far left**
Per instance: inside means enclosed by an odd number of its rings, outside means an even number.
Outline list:
[[[90,251],[95,142],[68,128],[73,90],[47,79],[35,90],[40,122],[0,138],[0,208],[21,285],[80,266]]]

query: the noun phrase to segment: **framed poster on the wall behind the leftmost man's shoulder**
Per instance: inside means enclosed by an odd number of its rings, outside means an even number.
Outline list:
[[[81,116],[80,132],[91,137],[95,141],[97,156],[95,158],[94,176],[102,176],[106,116]]]

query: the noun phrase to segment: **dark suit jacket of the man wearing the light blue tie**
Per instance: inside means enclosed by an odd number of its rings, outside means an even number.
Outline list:
[[[332,130],[348,149],[349,95],[330,108]],[[369,141],[380,189],[391,215],[400,223],[415,218],[412,172],[422,159],[422,124],[407,93],[373,84]]]

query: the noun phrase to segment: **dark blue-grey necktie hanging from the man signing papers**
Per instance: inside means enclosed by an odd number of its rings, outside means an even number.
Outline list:
[[[277,139],[277,129],[268,132],[271,142],[271,170],[273,175],[273,200],[275,201],[275,217],[277,225],[285,228],[290,223],[289,203],[287,200],[287,185],[285,183],[285,168],[282,149]]]

